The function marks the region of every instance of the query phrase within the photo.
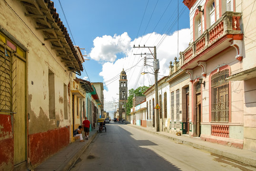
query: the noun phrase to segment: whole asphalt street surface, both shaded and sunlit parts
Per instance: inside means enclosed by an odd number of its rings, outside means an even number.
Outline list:
[[[110,122],[71,171],[256,171],[237,161]]]

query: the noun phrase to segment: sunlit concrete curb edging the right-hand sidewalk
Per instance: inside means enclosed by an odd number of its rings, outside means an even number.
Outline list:
[[[222,151],[222,150],[219,150],[219,149],[216,149],[216,148],[208,147],[206,145],[200,145],[200,144],[197,144],[197,143],[194,143],[194,142],[189,142],[189,141],[186,141],[186,140],[181,140],[179,138],[175,138],[175,137],[172,137],[172,136],[168,136],[168,135],[164,135],[164,134],[161,134],[161,133],[157,133],[157,132],[154,132],[154,131],[151,131],[151,130],[140,128],[138,126],[133,126],[131,124],[128,124],[128,125],[132,126],[132,127],[135,127],[137,129],[143,130],[143,131],[148,132],[148,133],[157,134],[159,136],[168,138],[168,139],[170,139],[172,141],[175,141],[175,142],[178,142],[178,143],[183,143],[183,144],[195,147],[197,149],[201,149],[201,150],[204,150],[204,151],[207,151],[207,152],[212,152],[214,154],[221,155],[221,156],[224,156],[224,157],[236,160],[236,161],[240,161],[240,162],[243,162],[245,164],[256,166],[256,159],[251,159],[249,156],[248,157],[240,156],[240,155],[237,155],[235,153],[225,152],[225,151]],[[231,147],[231,148],[233,148],[233,147]],[[234,150],[235,150],[235,148],[234,148]]]

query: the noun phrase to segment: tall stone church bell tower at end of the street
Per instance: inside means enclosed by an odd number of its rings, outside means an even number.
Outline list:
[[[128,98],[127,76],[124,68],[119,79],[119,120],[125,119],[125,106]]]

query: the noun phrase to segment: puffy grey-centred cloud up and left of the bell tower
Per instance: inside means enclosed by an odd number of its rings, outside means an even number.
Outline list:
[[[102,36],[93,40],[94,47],[91,49],[89,57],[97,61],[114,62],[118,53],[126,53],[131,49],[129,43],[131,38],[127,32],[122,35]]]

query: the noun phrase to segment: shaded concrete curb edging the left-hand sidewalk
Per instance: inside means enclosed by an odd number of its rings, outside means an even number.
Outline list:
[[[82,153],[87,149],[89,144],[94,140],[96,135],[98,134],[98,131],[95,131],[95,133],[89,137],[86,144],[79,150],[79,152],[75,153],[74,155],[70,156],[70,160],[65,161],[56,171],[70,171],[71,168],[74,166],[75,162],[79,159],[79,157],[82,155]]]

